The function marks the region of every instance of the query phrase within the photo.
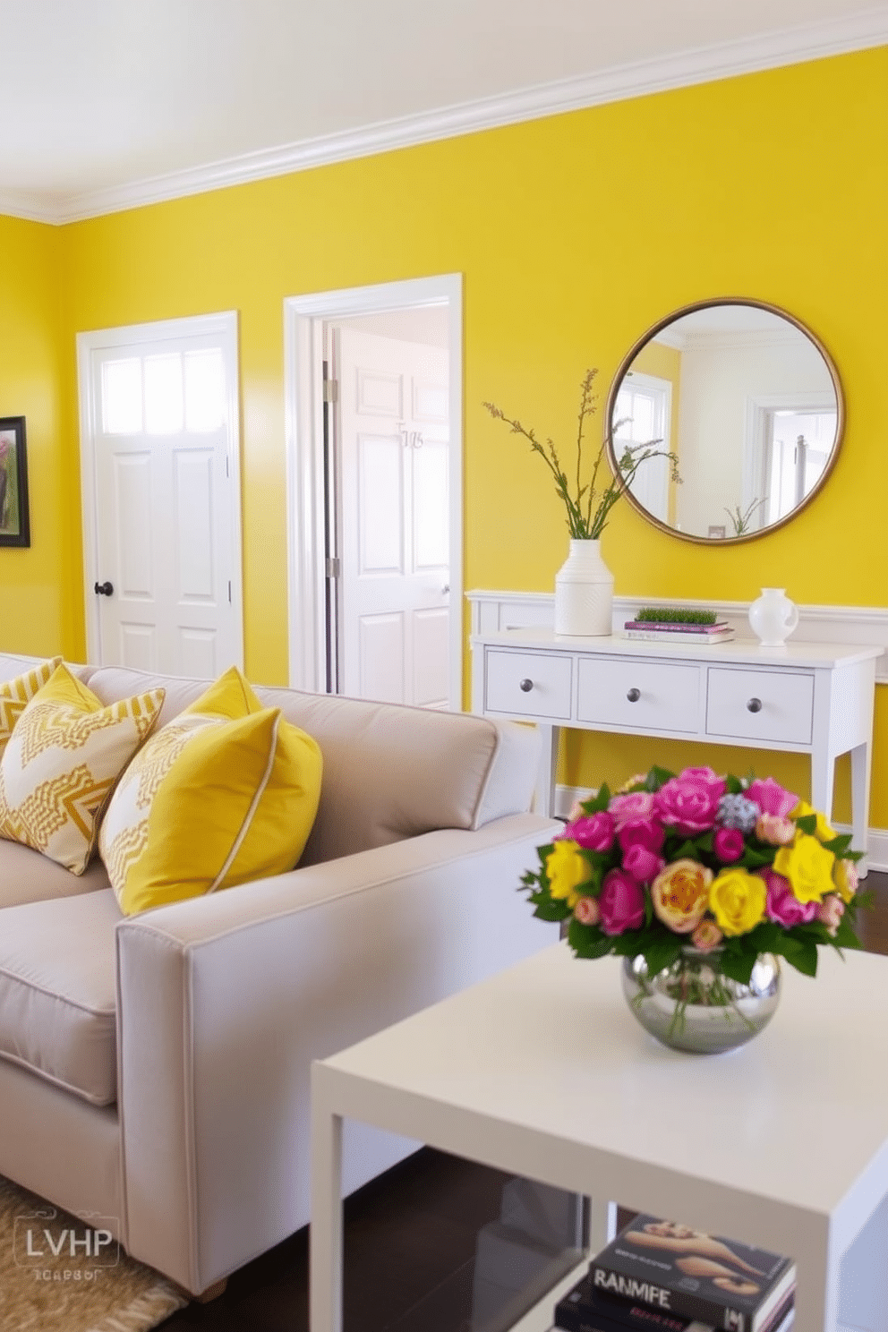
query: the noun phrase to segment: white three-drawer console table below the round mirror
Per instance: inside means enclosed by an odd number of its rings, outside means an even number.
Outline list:
[[[473,635],[471,650],[473,711],[537,722],[542,731],[541,813],[553,813],[563,726],[809,754],[811,803],[827,817],[835,761],[849,753],[853,846],[865,850],[881,647],[762,647],[739,638],[686,646],[513,629]]]

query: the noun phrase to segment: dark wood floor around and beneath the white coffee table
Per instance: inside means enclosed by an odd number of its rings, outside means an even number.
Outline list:
[[[871,874],[859,934],[888,955],[888,874]],[[423,1148],[345,1204],[346,1332],[478,1332],[471,1292],[478,1232],[495,1221],[507,1176]],[[210,1304],[164,1332],[308,1332],[308,1232],[236,1272]]]

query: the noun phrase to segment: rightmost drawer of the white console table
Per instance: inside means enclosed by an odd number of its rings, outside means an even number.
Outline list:
[[[813,675],[711,667],[706,730],[710,735],[809,745]]]

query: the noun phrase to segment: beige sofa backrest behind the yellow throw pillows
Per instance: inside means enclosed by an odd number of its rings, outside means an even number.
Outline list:
[[[165,689],[164,726],[206,681],[105,666],[89,687],[113,702]],[[419,836],[477,829],[530,807],[539,741],[531,727],[330,694],[256,687],[266,707],[312,735],[324,758],[321,803],[301,864]]]

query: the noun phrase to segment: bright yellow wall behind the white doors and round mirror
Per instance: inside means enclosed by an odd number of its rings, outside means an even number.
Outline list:
[[[17,381],[23,396],[32,385],[40,397],[40,382],[45,394],[40,408],[32,394],[15,409],[41,414],[35,449],[53,480],[39,482],[47,489],[36,503],[35,550],[3,565],[16,570],[15,586],[4,579],[3,587],[3,610],[17,626],[15,642],[4,635],[7,645],[84,651],[83,574],[72,537],[79,522],[75,333],[234,308],[246,670],[258,681],[285,681],[282,300],[449,272],[461,272],[465,284],[466,587],[550,590],[567,539],[542,461],[483,412],[482,400],[567,446],[587,366],[599,368],[603,412],[611,376],[644,329],[690,301],[738,294],[784,306],[829,349],[848,400],[843,454],[796,521],[748,545],[680,542],[618,505],[603,537],[616,591],[752,599],[760,586],[780,583],[799,602],[888,605],[887,97],[888,48],[877,48],[176,200],[57,233],[9,224],[23,256],[12,280],[21,292],[23,328],[40,329]],[[646,163],[660,164],[650,196],[643,184],[651,173],[642,181],[626,166],[639,149]],[[57,274],[60,328],[53,322]],[[43,625],[16,614],[19,577],[31,590],[40,586]],[[711,757],[735,770],[752,762],[807,791],[807,763],[797,757],[750,750]],[[694,746],[571,735],[562,779],[615,782],[652,759],[700,758]],[[872,814],[881,827],[888,827],[887,761],[888,713],[880,697]]]

